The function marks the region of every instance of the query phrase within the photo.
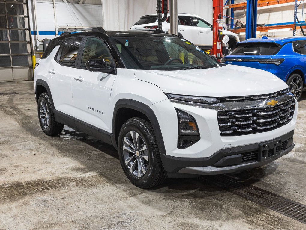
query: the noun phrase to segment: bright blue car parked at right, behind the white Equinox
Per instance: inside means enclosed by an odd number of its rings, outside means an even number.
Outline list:
[[[287,82],[299,100],[306,82],[306,37],[247,39],[238,42],[221,63],[269,71]]]

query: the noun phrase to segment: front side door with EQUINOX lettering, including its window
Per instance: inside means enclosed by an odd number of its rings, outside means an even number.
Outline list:
[[[104,59],[108,64],[113,61],[100,38],[87,38],[72,82],[74,117],[110,133],[110,93],[116,75],[88,71],[86,62],[89,59]]]

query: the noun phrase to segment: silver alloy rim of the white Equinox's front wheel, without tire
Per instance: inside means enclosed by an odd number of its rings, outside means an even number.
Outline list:
[[[144,139],[139,133],[130,131],[124,137],[122,150],[129,172],[136,177],[143,177],[149,164],[149,153]]]

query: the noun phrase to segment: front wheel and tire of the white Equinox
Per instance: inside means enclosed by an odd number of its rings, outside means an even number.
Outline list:
[[[135,186],[153,188],[164,181],[155,133],[146,120],[134,117],[123,124],[118,138],[118,152],[122,169]]]

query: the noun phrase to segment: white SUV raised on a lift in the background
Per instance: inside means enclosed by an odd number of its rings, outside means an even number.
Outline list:
[[[178,14],[178,35],[206,50],[212,47],[212,24],[196,14]],[[158,29],[157,14],[144,15],[130,28],[130,30],[154,30]],[[170,29],[169,16],[162,22],[162,30]],[[239,42],[237,34],[223,28],[222,33],[229,36],[229,53]]]

